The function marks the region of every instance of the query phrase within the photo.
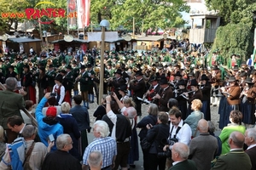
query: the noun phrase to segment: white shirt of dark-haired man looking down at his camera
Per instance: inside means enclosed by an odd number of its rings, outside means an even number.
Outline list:
[[[181,129],[176,134],[177,127],[181,127]],[[170,134],[172,131],[171,138],[173,138],[174,135],[176,134],[176,139],[178,140],[178,142],[189,145],[192,136],[191,128],[187,123],[183,125],[183,120],[179,122],[177,127],[173,126],[172,123],[170,123]],[[172,150],[172,145],[170,146],[170,150]]]

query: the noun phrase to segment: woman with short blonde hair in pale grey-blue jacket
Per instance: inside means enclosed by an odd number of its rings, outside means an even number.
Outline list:
[[[191,102],[191,110],[193,112],[186,118],[184,122],[189,124],[189,127],[191,127],[192,136],[197,136],[197,123],[200,119],[204,118],[204,113],[201,112],[202,103],[200,99],[194,99]]]

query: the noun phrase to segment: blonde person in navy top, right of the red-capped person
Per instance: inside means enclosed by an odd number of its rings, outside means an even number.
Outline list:
[[[69,103],[63,102],[61,104],[61,114],[56,117],[56,120],[62,125],[63,133],[69,134],[72,138],[73,148],[72,150],[69,150],[69,153],[77,159],[81,160],[81,157],[79,156],[79,138],[81,136],[79,125],[75,118],[69,114],[69,111]]]

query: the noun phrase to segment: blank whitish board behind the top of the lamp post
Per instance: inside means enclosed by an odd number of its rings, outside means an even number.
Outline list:
[[[101,42],[102,41],[102,32],[87,32],[89,42]],[[114,42],[119,39],[117,31],[106,31],[105,32],[105,41]]]

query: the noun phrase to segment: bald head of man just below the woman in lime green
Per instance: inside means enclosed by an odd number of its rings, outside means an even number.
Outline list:
[[[229,144],[230,144],[230,149],[241,149],[243,148],[244,144],[244,135],[240,132],[233,132],[230,133],[230,139],[229,139]]]

